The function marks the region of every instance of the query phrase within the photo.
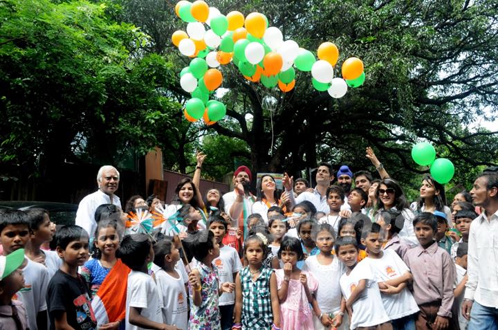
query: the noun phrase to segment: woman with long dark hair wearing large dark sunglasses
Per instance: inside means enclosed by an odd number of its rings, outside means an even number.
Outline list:
[[[413,228],[413,219],[415,215],[412,210],[409,209],[405,193],[399,183],[391,178],[385,178],[380,181],[376,191],[376,199],[376,218],[380,215],[380,212],[384,210],[394,209],[400,211],[405,218],[405,224],[400,231],[399,236],[405,239],[411,246],[418,245],[418,240],[416,239]]]

